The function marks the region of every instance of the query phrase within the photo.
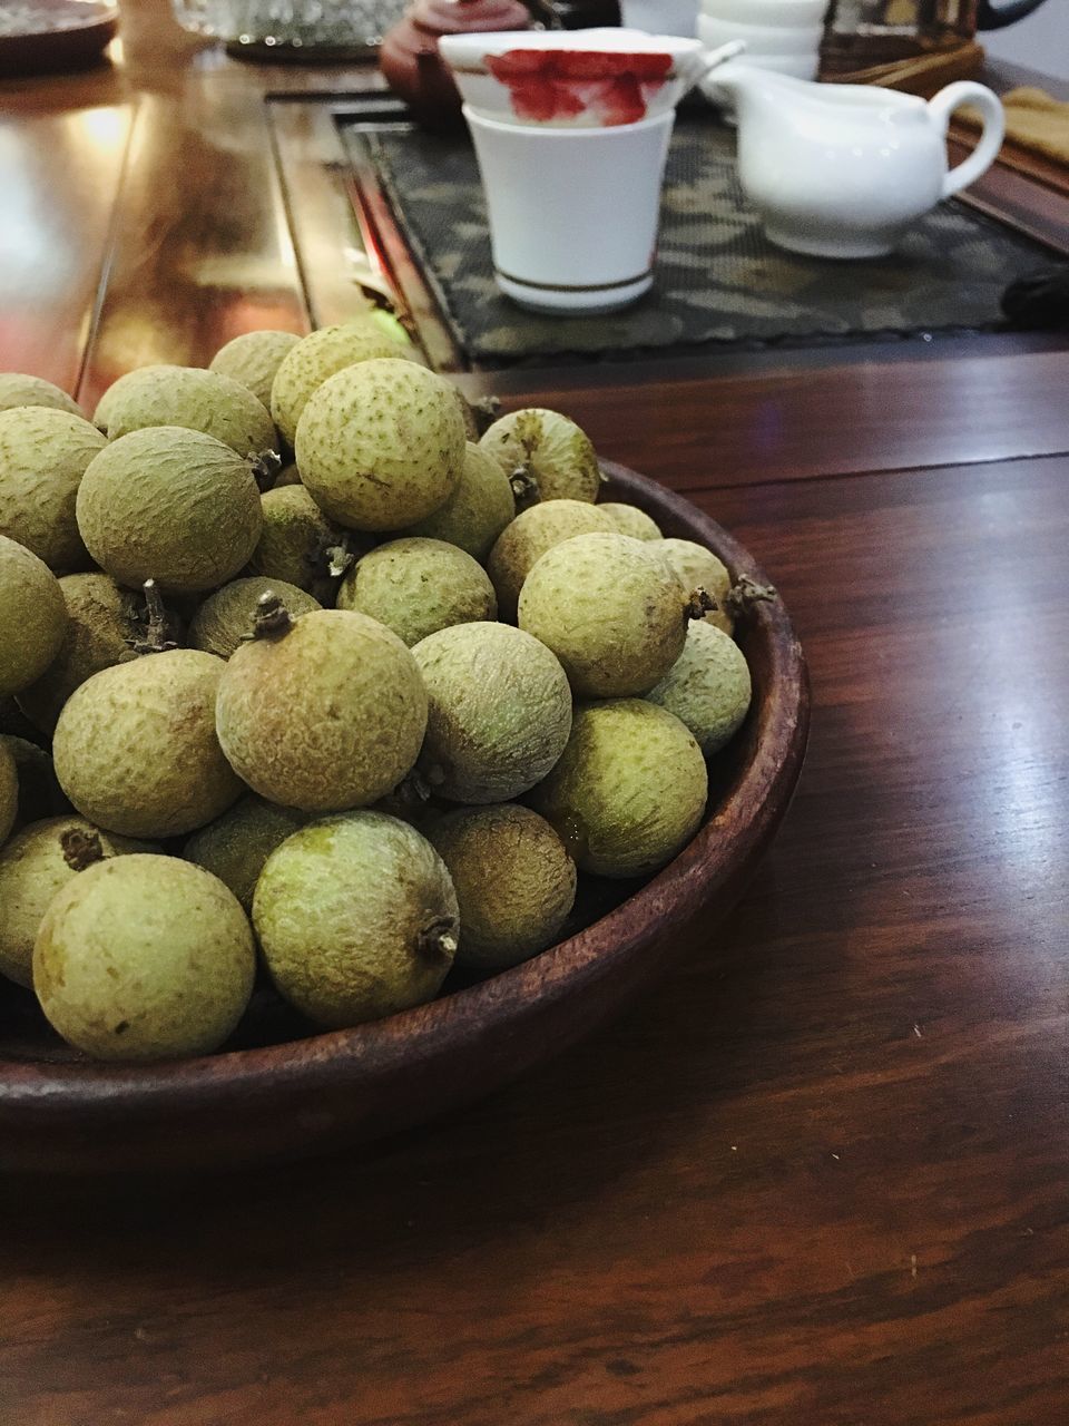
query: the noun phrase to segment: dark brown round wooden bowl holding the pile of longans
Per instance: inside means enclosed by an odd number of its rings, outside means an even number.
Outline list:
[[[609,498],[666,535],[708,545],[767,583],[741,545],[651,481],[604,466]],[[750,717],[713,764],[710,816],[651,881],[592,881],[586,928],[490,980],[356,1030],[315,1034],[261,1010],[245,1045],[147,1067],[94,1065],[61,1047],[31,997],[0,997],[0,1168],[202,1169],[371,1139],[473,1099],[604,1024],[708,938],[771,841],[798,780],[808,680],[787,612],[757,605],[740,630]],[[272,1018],[275,1017],[275,1018]],[[288,1034],[278,1044],[264,1044]],[[261,1042],[257,1044],[257,1040]]]

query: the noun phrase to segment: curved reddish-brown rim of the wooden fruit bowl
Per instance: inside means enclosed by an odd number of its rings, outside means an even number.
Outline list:
[[[601,468],[621,492],[613,498],[639,508],[650,505],[660,519],[678,518],[680,525],[700,532],[703,543],[724,560],[733,579],[747,575],[768,583],[748,550],[690,501],[616,462],[601,461]],[[666,913],[686,906],[698,891],[708,898],[735,884],[743,874],[740,868],[754,861],[775,830],[784,796],[797,783],[808,733],[805,660],[780,599],[757,605],[751,617],[753,627],[764,630],[771,650],[768,692],[758,710],[753,756],[683,851],[609,914],[520,965],[349,1030],[143,1065],[0,1057],[0,1108],[9,1132],[20,1111],[47,1111],[47,1101],[53,1099],[61,1101],[64,1112],[71,1115],[80,1108],[98,1111],[104,1104],[114,1114],[130,1109],[174,1115],[192,1105],[220,1107],[235,1094],[277,1095],[279,1079],[291,1091],[366,1085],[368,1079],[432,1062],[445,1048],[537,1020],[553,1002],[573,994],[577,983],[603,977],[614,960],[630,960],[637,944],[664,928]],[[725,813],[744,793],[755,811],[740,823]]]

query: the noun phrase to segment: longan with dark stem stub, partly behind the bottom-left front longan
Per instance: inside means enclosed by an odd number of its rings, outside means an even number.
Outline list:
[[[33,985],[33,944],[53,897],[87,867],[105,857],[157,851],[101,831],[84,817],[34,821],[0,851],[0,974]]]

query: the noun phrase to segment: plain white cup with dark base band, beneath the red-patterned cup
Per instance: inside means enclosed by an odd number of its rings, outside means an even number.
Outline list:
[[[534,312],[614,312],[653,285],[674,110],[613,128],[537,128],[463,110],[497,287]]]

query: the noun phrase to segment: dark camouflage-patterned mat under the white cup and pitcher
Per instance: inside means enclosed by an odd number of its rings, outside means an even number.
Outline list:
[[[668,154],[654,289],[611,317],[536,317],[495,285],[479,168],[465,134],[398,128],[346,138],[371,144],[453,338],[480,365],[991,331],[1002,325],[1006,285],[1049,261],[1040,244],[955,202],[921,220],[891,257],[835,262],[784,252],[743,198],[734,130],[687,117]]]

